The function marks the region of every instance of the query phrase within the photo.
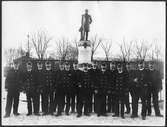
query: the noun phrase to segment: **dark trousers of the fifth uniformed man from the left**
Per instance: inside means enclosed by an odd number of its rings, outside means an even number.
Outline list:
[[[64,96],[64,88],[57,88],[56,91],[56,97],[57,97],[57,113],[61,114],[64,110],[64,104],[65,104],[65,96]]]

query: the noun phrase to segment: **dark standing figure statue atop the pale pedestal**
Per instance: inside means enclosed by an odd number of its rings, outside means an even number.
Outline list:
[[[79,31],[81,32],[81,41],[88,40],[89,25],[92,23],[92,18],[88,14],[88,9],[85,10],[85,14],[82,15],[81,27]]]

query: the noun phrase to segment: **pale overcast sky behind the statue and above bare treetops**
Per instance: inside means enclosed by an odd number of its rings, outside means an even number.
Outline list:
[[[97,34],[104,40],[113,40],[113,54],[118,52],[116,42],[157,39],[164,50],[165,2],[111,2],[111,1],[17,1],[2,2],[3,49],[24,45],[27,34],[46,30],[56,39],[80,39],[78,29],[81,15],[89,10],[93,22],[90,36]],[[97,56],[104,55],[99,48]]]

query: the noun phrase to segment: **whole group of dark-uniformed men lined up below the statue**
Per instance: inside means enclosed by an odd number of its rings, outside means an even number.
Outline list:
[[[145,69],[144,63],[138,63],[138,69],[132,70],[130,64],[125,66],[114,62],[107,69],[103,63],[98,69],[93,63],[88,69],[88,64],[83,64],[83,70],[78,69],[78,64],[60,63],[59,69],[52,69],[51,62],[43,64],[37,62],[37,70],[33,70],[32,62],[26,64],[26,72],[21,72],[19,64],[15,63],[9,70],[5,88],[7,90],[6,114],[10,116],[13,105],[14,115],[18,113],[20,92],[25,92],[27,97],[27,108],[29,115],[40,115],[40,104],[42,115],[66,115],[77,112],[77,117],[82,114],[90,116],[92,112],[97,116],[113,117],[130,113],[131,118],[138,117],[138,102],[141,99],[142,119],[151,115],[151,105],[155,115],[163,117],[158,105],[158,92],[162,90],[162,79],[154,64],[149,63],[149,69]],[[72,69],[71,69],[72,68]],[[129,103],[129,95],[132,97],[132,106]],[[41,98],[41,103],[40,103]],[[126,111],[124,106],[126,107]]]

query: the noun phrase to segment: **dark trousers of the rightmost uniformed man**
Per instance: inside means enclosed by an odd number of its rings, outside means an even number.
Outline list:
[[[153,106],[155,110],[155,115],[160,114],[159,104],[158,104],[158,90],[156,88],[150,87],[147,94],[147,113],[151,114],[151,98],[153,99]]]

